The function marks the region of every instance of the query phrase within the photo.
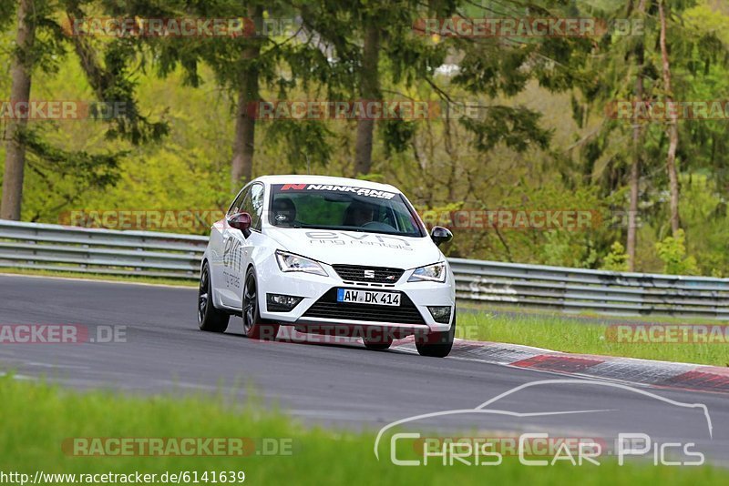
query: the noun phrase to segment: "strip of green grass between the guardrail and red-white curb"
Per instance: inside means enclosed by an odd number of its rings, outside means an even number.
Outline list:
[[[606,318],[581,320],[549,314],[501,314],[481,311],[458,314],[457,337],[508,342],[571,353],[602,354],[642,359],[729,366],[729,343],[628,343],[606,336]],[[626,324],[722,324],[706,319],[622,319]]]

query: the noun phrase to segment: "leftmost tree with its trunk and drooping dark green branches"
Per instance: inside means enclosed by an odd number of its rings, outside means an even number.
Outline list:
[[[27,103],[34,68],[55,73],[70,45],[98,100],[124,108],[114,116],[98,116],[108,126],[107,137],[127,140],[133,145],[159,140],[167,134],[168,126],[142,116],[136,103],[135,83],[128,70],[135,59],[133,43],[122,38],[94,47],[84,36],[74,35],[59,21],[64,16],[83,17],[82,6],[87,4],[93,4],[94,8],[104,6],[96,0],[67,0],[61,4],[22,0],[19,3],[11,102]],[[103,62],[99,61],[98,53]],[[64,150],[46,142],[43,127],[28,127],[26,122],[25,117],[14,117],[8,123],[0,217],[19,219],[21,216],[26,162],[32,162],[30,167],[43,177],[54,171],[58,175],[73,175],[78,187],[105,187],[114,183],[118,159],[124,156],[124,150],[102,155]]]

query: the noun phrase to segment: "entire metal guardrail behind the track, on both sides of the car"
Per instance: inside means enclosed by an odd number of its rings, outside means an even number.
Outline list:
[[[0,268],[197,279],[207,241],[0,219]],[[729,319],[729,278],[449,261],[462,300],[563,312]]]

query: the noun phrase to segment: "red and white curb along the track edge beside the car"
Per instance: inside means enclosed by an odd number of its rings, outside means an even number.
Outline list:
[[[416,352],[412,337],[396,341],[392,349]],[[620,380],[652,387],[729,393],[729,368],[696,364],[570,354],[518,344],[456,339],[450,357],[528,370]]]

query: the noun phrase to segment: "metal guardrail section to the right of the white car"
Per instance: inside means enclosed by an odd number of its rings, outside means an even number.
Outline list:
[[[514,307],[729,319],[729,278],[450,258],[456,296]]]

